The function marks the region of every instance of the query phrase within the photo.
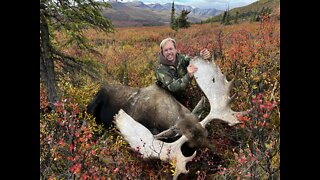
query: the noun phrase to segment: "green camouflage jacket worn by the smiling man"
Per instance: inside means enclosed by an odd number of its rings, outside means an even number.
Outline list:
[[[191,78],[187,74],[187,67],[191,57],[177,54],[175,64],[168,61],[161,53],[158,54],[156,69],[157,84],[164,89],[177,94],[185,90]]]

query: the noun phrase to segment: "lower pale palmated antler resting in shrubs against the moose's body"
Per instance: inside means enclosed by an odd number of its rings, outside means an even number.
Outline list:
[[[185,157],[182,154],[181,146],[187,141],[185,136],[172,143],[157,140],[146,127],[132,119],[122,109],[115,117],[115,124],[131,148],[138,150],[143,158],[174,161],[176,173],[173,179],[177,179],[181,173],[189,172],[186,169],[186,164],[195,157],[196,152],[190,157]]]

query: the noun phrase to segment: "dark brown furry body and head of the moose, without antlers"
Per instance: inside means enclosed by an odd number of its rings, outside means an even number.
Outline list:
[[[156,84],[145,88],[106,84],[87,106],[87,111],[94,115],[97,123],[106,127],[112,125],[120,109],[154,135],[175,127],[180,135],[189,139],[191,147],[202,146],[208,135],[196,115]]]

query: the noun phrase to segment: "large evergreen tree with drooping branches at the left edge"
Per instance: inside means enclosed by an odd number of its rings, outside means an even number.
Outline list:
[[[111,21],[101,14],[102,8],[109,7],[108,3],[91,0],[40,0],[40,80],[47,90],[49,102],[59,100],[57,62],[62,65],[63,72],[84,71],[95,76],[90,66],[85,67],[81,59],[66,55],[60,48],[75,44],[80,50],[98,53],[87,43],[84,31],[93,28],[113,32]],[[66,44],[58,43],[57,31],[66,36]]]

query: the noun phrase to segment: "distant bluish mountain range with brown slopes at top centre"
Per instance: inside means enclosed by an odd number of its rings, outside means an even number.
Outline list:
[[[103,16],[110,19],[115,26],[157,26],[170,22],[171,3],[144,4],[140,1],[113,2],[109,1],[111,9],[104,9]],[[216,16],[223,11],[218,9],[199,9],[191,6],[175,4],[176,16],[183,9],[190,10],[188,20],[200,22],[209,17]]]

